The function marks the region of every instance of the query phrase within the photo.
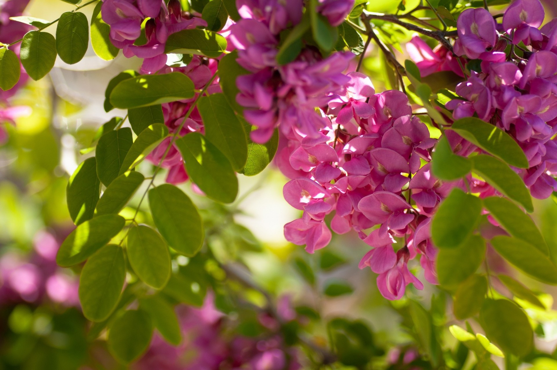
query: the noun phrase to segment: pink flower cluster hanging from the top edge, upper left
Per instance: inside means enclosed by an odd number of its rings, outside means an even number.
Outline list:
[[[143,59],[141,71],[146,74],[157,72],[167,62],[164,46],[172,33],[207,26],[198,17],[190,17],[182,11],[179,0],[104,0],[101,8],[102,20],[110,25],[110,41],[123,49],[128,58]],[[141,36],[141,24],[145,22],[146,43],[134,45]]]

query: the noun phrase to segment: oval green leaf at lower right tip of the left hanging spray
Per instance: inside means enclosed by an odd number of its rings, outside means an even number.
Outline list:
[[[139,279],[155,289],[164,288],[170,279],[170,253],[159,233],[144,225],[131,228],[126,250]]]

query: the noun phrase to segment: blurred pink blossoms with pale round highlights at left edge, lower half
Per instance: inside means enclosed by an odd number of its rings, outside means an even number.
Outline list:
[[[79,306],[77,276],[67,274],[56,265],[60,242],[46,231],[35,235],[35,250],[30,257],[8,252],[0,257],[0,305],[21,301],[50,301]]]

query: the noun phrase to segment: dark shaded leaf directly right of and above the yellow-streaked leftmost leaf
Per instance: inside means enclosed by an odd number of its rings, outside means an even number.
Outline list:
[[[109,186],[118,177],[124,158],[133,144],[129,127],[111,131],[101,136],[95,151],[97,158],[97,176]]]

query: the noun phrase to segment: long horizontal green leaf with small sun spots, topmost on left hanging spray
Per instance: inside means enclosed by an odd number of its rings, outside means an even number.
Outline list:
[[[116,85],[110,93],[110,103],[116,108],[139,108],[193,98],[193,90],[192,80],[180,72],[141,75]]]

